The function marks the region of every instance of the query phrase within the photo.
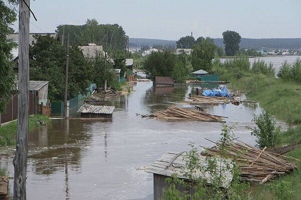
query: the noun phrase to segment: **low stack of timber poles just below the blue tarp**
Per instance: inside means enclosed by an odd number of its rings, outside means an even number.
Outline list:
[[[202,95],[192,95],[189,97],[188,100],[182,101],[181,103],[190,104],[190,105],[218,105],[218,104],[225,104],[229,103],[230,99],[227,97],[221,96],[202,96]]]

